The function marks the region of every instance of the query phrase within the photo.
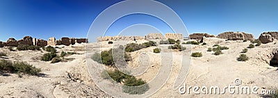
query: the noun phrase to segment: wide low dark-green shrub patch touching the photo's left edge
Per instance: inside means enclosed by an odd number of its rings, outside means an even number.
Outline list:
[[[29,65],[26,62],[11,62],[10,60],[0,60],[1,73],[24,73],[30,75],[38,75],[41,72],[40,69]]]

